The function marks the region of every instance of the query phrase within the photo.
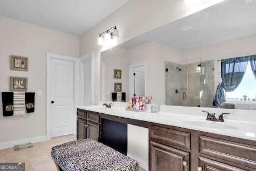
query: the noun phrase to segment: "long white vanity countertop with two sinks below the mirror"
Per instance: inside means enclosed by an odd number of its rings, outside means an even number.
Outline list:
[[[177,114],[170,112],[151,113],[127,111],[124,107],[104,108],[102,105],[89,105],[77,107],[117,117],[143,120],[147,122],[172,125],[187,129],[200,130],[203,132],[228,135],[249,140],[256,140],[256,123],[225,119],[224,123],[205,120],[206,115]],[[225,118],[225,116],[224,116]]]

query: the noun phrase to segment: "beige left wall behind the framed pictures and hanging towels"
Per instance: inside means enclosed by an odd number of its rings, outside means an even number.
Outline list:
[[[36,92],[35,112],[0,118],[0,143],[46,135],[46,53],[79,56],[79,38],[14,19],[0,17],[0,90],[9,91],[9,77],[28,77],[28,91]],[[28,72],[11,71],[10,56],[26,56]],[[43,91],[38,96],[38,90]],[[2,113],[2,103],[0,113]],[[2,115],[2,114],[1,114]]]

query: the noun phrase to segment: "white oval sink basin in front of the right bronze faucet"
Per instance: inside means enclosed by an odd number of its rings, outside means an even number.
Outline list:
[[[184,123],[187,123],[192,126],[202,127],[202,128],[229,129],[229,130],[238,129],[233,125],[230,125],[227,123],[213,122],[209,120],[186,120]]]

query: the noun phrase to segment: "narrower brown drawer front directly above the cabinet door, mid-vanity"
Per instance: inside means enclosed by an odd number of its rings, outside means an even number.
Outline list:
[[[187,132],[151,126],[150,140],[190,150],[190,133]]]

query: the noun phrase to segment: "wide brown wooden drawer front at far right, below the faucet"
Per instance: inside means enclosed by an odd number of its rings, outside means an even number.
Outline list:
[[[256,169],[256,147],[229,140],[199,136],[199,155],[208,155]]]

